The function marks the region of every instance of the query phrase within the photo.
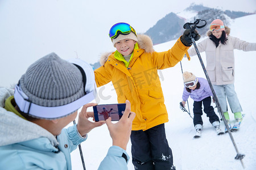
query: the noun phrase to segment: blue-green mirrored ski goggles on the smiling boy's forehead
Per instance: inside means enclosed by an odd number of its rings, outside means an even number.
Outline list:
[[[117,24],[114,24],[110,28],[110,30],[109,30],[109,37],[111,39],[116,39],[119,34],[127,35],[130,32],[135,33],[135,35],[137,36],[137,34],[135,32],[135,29],[133,29],[133,27],[131,27],[131,25],[129,25],[127,23],[117,23]]]

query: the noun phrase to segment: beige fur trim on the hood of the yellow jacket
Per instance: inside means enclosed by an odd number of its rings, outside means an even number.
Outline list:
[[[153,42],[149,36],[141,34],[141,35],[137,35],[137,38],[138,38],[138,46],[140,49],[144,49],[146,53],[154,52]],[[107,61],[107,59],[112,53],[113,52],[103,53],[100,58],[100,64],[104,65],[104,63]]]

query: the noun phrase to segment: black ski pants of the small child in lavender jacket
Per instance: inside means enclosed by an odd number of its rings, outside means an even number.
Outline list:
[[[220,122],[220,119],[218,118],[217,114],[214,112],[214,108],[210,105],[211,102],[212,102],[212,99],[210,98],[210,96],[206,97],[201,101],[194,101],[194,104],[193,104],[194,126],[196,126],[197,124],[203,125],[203,120],[201,117],[203,115],[202,103],[204,104],[204,113],[206,113],[207,117],[209,117],[210,123],[212,124],[214,121]]]

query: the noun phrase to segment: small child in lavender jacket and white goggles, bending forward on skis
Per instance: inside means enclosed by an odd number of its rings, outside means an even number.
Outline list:
[[[183,106],[185,107],[185,101],[188,100],[189,96],[194,100],[193,123],[196,129],[195,138],[201,136],[201,129],[203,126],[203,120],[201,118],[203,115],[202,103],[204,105],[204,112],[207,114],[207,117],[209,117],[209,121],[213,125],[217,134],[224,134],[224,132],[222,132],[220,129],[220,119],[214,112],[214,108],[210,105],[212,101],[210,96],[213,95],[207,80],[204,78],[197,78],[193,73],[189,73],[188,71],[183,73],[183,80],[185,86],[182,95]]]

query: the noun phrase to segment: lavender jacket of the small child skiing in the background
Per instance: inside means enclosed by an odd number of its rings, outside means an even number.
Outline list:
[[[200,88],[191,90],[191,93],[189,93],[186,88],[184,87],[182,100],[187,101],[188,97],[190,96],[191,99],[194,101],[201,101],[205,99],[206,97],[213,96],[212,91],[210,90],[209,83],[204,78],[198,78],[198,82],[200,83]]]

